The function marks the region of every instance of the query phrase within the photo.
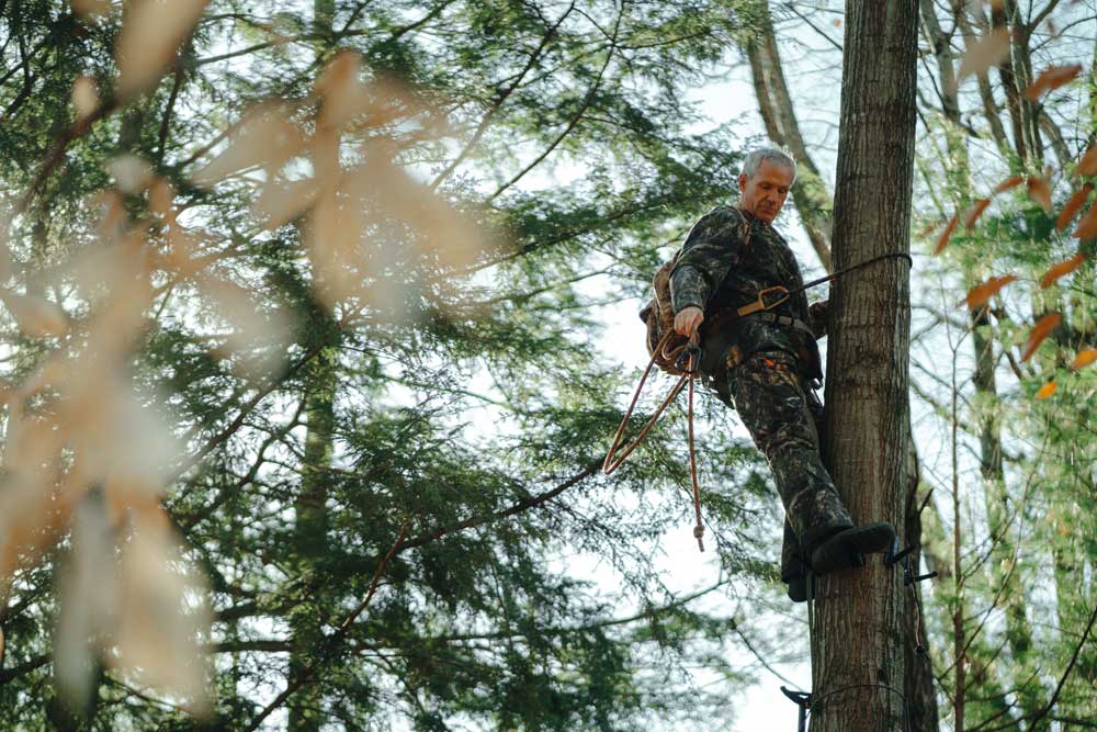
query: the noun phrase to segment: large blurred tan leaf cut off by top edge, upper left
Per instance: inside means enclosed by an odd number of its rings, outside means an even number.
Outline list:
[[[171,64],[179,44],[197,24],[210,0],[139,0],[126,8],[114,44],[118,61],[117,95],[127,100],[152,86]]]

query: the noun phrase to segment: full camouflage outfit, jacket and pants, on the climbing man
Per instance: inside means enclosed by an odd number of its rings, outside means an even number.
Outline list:
[[[810,385],[823,376],[815,341],[774,324],[715,317],[777,285],[803,285],[792,249],[768,223],[728,206],[693,226],[670,273],[675,313],[690,305],[705,313],[702,372],[738,408],[769,461],[785,509],[781,576],[790,578],[802,571],[807,548],[853,521],[819,453],[822,405]],[[826,309],[825,303],[808,308],[801,292],[771,312],[803,320],[822,336]]]

